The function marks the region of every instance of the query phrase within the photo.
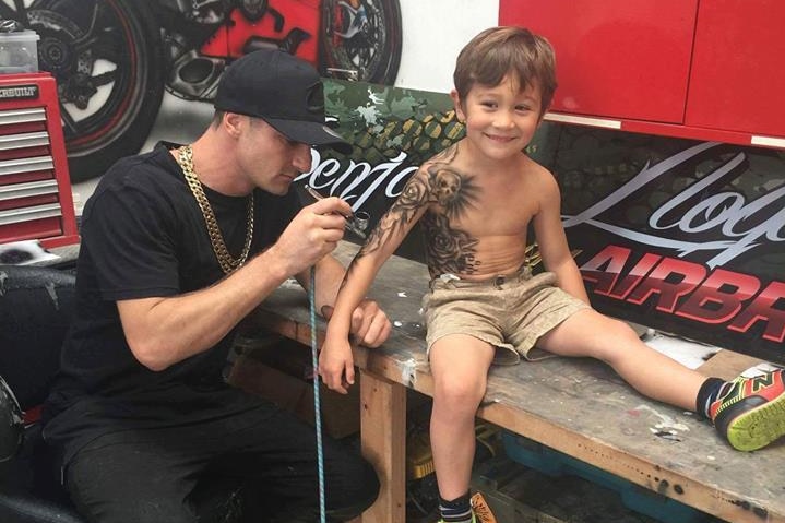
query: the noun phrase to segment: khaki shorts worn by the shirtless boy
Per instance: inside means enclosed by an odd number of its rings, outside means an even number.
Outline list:
[[[484,282],[441,276],[430,289],[423,297],[428,350],[443,336],[467,334],[497,347],[496,365],[550,356],[534,346],[537,338],[588,307],[556,286],[554,273],[532,276],[528,268]]]

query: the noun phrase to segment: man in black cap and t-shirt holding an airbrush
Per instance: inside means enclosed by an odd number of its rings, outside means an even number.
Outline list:
[[[319,75],[259,50],[224,73],[215,117],[192,144],[123,158],[87,202],[76,311],[47,401],[45,438],[61,454],[78,510],[100,523],[316,521],[313,429],[228,387],[233,330],[290,276],[318,310],[344,269],[330,255],[350,206],[300,209],[289,186],[310,146],[346,150],[324,126]],[[372,301],[354,333],[380,345]],[[331,521],[354,518],[379,483],[356,452],[324,441]]]

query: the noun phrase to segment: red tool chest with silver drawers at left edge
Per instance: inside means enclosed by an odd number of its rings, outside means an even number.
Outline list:
[[[57,85],[0,74],[0,243],[29,239],[79,242]]]

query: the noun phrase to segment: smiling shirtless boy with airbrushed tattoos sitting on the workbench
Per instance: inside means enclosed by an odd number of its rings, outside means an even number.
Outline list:
[[[326,385],[345,392],[354,381],[352,311],[423,218],[432,277],[423,300],[433,376],[430,436],[442,520],[495,521],[469,506],[474,416],[491,362],[532,358],[535,343],[607,362],[642,394],[711,419],[736,449],[760,449],[785,433],[783,370],[732,382],[706,378],[590,307],[561,225],[556,179],[523,153],[556,88],[547,40],[519,27],[487,29],[461,51],[453,80],[465,138],[419,168],[353,260],[319,364]],[[536,276],[525,262],[530,222],[548,271]]]

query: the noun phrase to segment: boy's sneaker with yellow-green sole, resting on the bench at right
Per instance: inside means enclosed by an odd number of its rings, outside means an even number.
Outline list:
[[[709,407],[714,427],[736,450],[761,449],[785,435],[785,370],[738,377]]]

